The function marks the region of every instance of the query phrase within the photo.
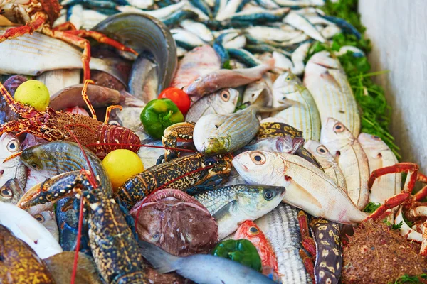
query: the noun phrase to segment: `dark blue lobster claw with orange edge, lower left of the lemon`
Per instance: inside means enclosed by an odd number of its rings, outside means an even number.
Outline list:
[[[81,185],[83,180],[85,180],[82,178],[82,175],[85,175],[85,173],[75,170],[48,178],[44,182],[31,187],[21,197],[16,206],[26,209],[38,204],[56,202],[63,197],[74,195],[76,187]]]

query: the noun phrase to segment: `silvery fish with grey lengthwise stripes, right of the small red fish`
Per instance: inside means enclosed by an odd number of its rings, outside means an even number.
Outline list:
[[[264,232],[273,248],[281,283],[311,283],[299,253],[302,249],[302,239],[297,220],[298,211],[295,207],[282,203],[255,220],[255,224]]]

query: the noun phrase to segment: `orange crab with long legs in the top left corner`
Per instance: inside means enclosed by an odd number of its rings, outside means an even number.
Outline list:
[[[119,50],[138,55],[132,48],[127,48],[112,38],[96,31],[77,30],[72,23],[63,23],[52,28],[53,22],[60,16],[59,2],[56,0],[0,0],[0,26],[14,26],[0,35],[0,43],[11,38],[18,38],[26,33],[38,31],[53,38],[64,40],[83,49],[83,77],[90,79],[90,43],[85,38],[93,38],[99,43],[106,43]],[[23,25],[23,26],[16,26]]]

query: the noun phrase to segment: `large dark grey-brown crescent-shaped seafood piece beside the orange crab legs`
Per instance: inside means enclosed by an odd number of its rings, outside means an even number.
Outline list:
[[[169,87],[178,59],[175,40],[162,21],[149,15],[118,13],[98,23],[93,30],[119,40],[138,53],[151,52],[159,65],[158,92]]]

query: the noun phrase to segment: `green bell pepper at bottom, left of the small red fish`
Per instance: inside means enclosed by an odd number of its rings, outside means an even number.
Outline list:
[[[261,271],[263,266],[255,246],[247,239],[221,241],[211,251],[214,256],[231,259],[238,263]]]

